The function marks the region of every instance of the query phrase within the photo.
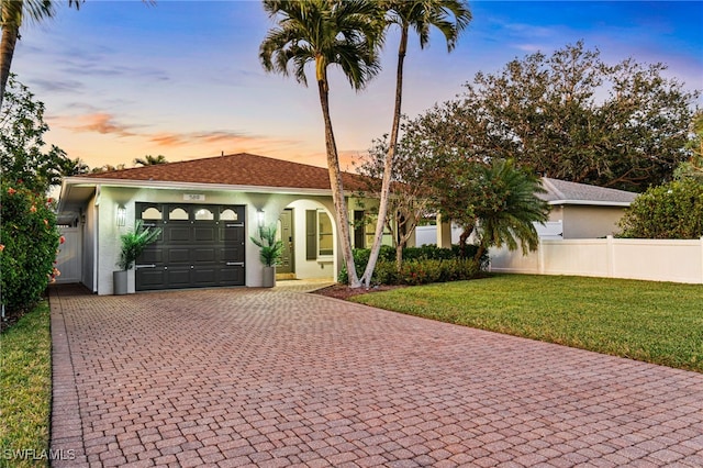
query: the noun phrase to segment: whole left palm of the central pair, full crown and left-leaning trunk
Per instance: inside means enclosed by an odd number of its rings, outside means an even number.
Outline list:
[[[378,74],[380,66],[376,46],[382,34],[378,3],[369,0],[265,0],[264,9],[278,21],[278,26],[268,32],[259,49],[264,68],[283,76],[292,73],[298,82],[306,86],[305,65],[313,63],[315,66],[325,124],[330,186],[342,253],[349,274],[349,286],[359,287],[361,285],[352,254],[339,157],[330,116],[327,68],[331,65],[342,68],[356,90],[362,89]]]

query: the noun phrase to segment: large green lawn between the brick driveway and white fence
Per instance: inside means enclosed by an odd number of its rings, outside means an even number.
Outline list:
[[[496,275],[361,294],[412,315],[703,372],[703,286]]]

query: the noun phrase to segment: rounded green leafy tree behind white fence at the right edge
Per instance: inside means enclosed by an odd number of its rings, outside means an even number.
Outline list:
[[[703,236],[703,183],[688,178],[648,189],[629,205],[620,227],[622,237]]]

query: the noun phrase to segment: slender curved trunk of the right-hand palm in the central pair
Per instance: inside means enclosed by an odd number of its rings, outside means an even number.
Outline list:
[[[366,270],[361,276],[361,281],[364,281],[364,285],[367,288],[371,283],[371,276],[373,275],[373,269],[376,268],[378,254],[381,252],[381,243],[383,241],[383,226],[386,224],[386,216],[388,215],[388,199],[391,191],[393,158],[395,157],[395,146],[398,145],[398,134],[400,132],[401,104],[403,99],[403,63],[405,62],[405,53],[408,52],[408,29],[409,25],[404,24],[401,31],[400,46],[398,47],[398,69],[395,70],[395,107],[393,109],[393,125],[391,129],[391,138],[388,146],[388,154],[386,155],[386,161],[383,163],[381,199],[378,207],[378,220],[376,221],[373,244],[369,254],[369,261],[366,265]]]

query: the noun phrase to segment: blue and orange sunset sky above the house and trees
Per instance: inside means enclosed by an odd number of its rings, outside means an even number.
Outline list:
[[[703,2],[473,1],[448,54],[416,37],[405,66],[404,113],[454,98],[481,70],[583,40],[609,63],[665,63],[703,90]],[[89,166],[163,154],[182,160],[237,152],[325,165],[315,86],[266,74],[258,47],[272,26],[258,1],[87,0],[27,24],[12,70],[46,104],[46,142]],[[344,164],[390,130],[397,35],[383,71],[355,92],[332,75],[331,105]],[[703,103],[703,101],[699,101]]]

